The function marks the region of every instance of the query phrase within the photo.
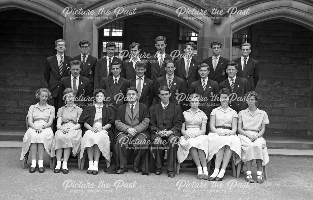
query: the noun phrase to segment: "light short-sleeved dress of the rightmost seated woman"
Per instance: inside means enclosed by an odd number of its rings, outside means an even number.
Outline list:
[[[249,108],[239,112],[238,123],[242,123],[242,129],[252,135],[257,135],[261,130],[262,124],[269,124],[269,117],[264,110],[256,109],[254,115]],[[269,154],[267,152],[266,141],[263,137],[256,139],[254,142],[241,134],[238,134],[241,140],[241,159],[247,162],[253,159],[262,160],[262,165],[265,166],[269,162]]]

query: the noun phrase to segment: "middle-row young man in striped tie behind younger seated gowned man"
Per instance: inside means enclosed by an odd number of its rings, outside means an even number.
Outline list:
[[[177,96],[181,93],[185,93],[184,80],[174,75],[174,71],[176,69],[174,61],[167,60],[165,65],[166,66],[164,68],[166,71],[166,75],[156,79],[157,85],[155,88],[159,88],[162,85],[167,86],[170,89],[170,93],[172,94],[169,99],[170,102],[179,105],[181,102],[178,103]],[[157,103],[159,103],[158,96],[156,96],[152,104]]]

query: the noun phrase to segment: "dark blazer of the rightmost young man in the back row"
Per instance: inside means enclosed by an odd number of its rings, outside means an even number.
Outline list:
[[[244,68],[244,71],[242,71],[241,57],[233,61],[238,64],[238,72],[236,76],[247,79],[250,85],[250,90],[254,91],[259,81],[259,62],[249,57],[247,65]]]

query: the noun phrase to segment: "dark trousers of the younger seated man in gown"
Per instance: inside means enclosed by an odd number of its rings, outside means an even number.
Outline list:
[[[162,138],[157,136],[153,142],[153,154],[155,156],[156,168],[162,168],[163,163],[163,151],[164,147],[167,147],[167,170],[174,171],[174,166],[176,162],[176,154],[178,150],[179,138],[175,135],[170,135],[167,138]]]

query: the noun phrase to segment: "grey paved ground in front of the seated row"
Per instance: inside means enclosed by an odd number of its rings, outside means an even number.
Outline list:
[[[123,175],[100,173],[88,175],[69,162],[69,174],[55,174],[45,155],[45,173],[29,173],[19,161],[20,148],[0,148],[0,199],[312,199],[313,157],[271,156],[268,179],[263,184],[247,183],[244,175],[233,178],[227,171],[222,182],[196,179],[196,169],[183,168],[175,178],[162,175],[143,176],[129,172]],[[30,162],[30,160],[28,160]],[[253,165],[253,177],[256,166]],[[212,172],[211,172],[212,173]],[[218,183],[218,184],[217,184]],[[91,185],[93,184],[93,185]],[[74,187],[73,187],[74,186]]]

